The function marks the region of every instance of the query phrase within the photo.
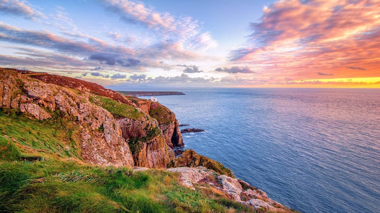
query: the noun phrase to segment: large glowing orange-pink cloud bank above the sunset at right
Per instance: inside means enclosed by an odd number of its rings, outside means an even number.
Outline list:
[[[378,0],[277,1],[230,61],[258,78],[380,77],[379,8]]]

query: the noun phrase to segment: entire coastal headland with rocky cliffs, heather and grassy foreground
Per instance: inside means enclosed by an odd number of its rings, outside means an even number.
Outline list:
[[[294,212],[193,150],[175,158],[160,103],[0,68],[0,107],[2,211]]]

